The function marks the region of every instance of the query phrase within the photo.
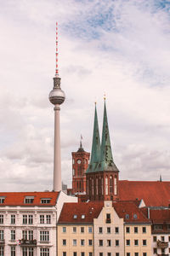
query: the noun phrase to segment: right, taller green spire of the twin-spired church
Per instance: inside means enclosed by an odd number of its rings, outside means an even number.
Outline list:
[[[98,166],[99,172],[115,171],[119,172],[112,156],[111,151],[111,140],[109,134],[109,125],[107,121],[106,106],[104,104],[104,119],[103,119],[103,131],[102,131],[102,142],[100,149],[100,161]]]

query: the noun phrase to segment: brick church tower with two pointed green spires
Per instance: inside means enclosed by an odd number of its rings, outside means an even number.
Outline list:
[[[119,170],[112,157],[111,140],[105,106],[101,145],[99,140],[97,110],[95,106],[94,136],[91,160],[86,172],[86,180],[87,196],[90,201],[118,200]]]

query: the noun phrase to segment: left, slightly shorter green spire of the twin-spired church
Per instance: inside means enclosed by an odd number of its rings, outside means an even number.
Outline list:
[[[100,159],[100,140],[99,140],[99,125],[98,125],[98,115],[95,103],[95,112],[94,112],[94,135],[93,135],[93,144],[91,151],[90,164],[88,166],[88,172],[95,172],[95,168],[99,163]]]

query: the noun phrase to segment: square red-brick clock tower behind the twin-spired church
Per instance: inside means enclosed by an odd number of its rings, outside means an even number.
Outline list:
[[[72,194],[86,193],[86,171],[90,153],[82,148],[82,141],[77,152],[72,152]]]

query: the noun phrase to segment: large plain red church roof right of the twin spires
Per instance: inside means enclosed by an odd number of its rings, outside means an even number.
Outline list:
[[[170,182],[119,181],[119,199],[143,199],[147,207],[167,207],[170,204]]]

